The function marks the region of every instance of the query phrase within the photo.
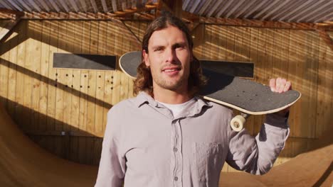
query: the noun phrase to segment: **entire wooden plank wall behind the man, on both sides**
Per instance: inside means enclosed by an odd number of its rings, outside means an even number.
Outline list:
[[[142,40],[147,22],[126,24]],[[201,24],[193,37],[199,59],[253,62],[255,81],[285,77],[302,93],[276,164],[306,152],[332,125],[333,52],[317,32]],[[132,81],[119,68],[54,69],[53,53],[119,58],[139,50],[131,33],[112,21],[22,21],[0,47],[0,99],[20,128],[59,157],[98,164],[106,113],[132,97]],[[251,134],[263,118],[250,117],[246,128]]]

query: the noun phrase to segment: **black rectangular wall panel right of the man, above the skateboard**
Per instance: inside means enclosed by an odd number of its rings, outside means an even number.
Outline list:
[[[200,60],[202,68],[235,77],[254,77],[254,64],[251,62],[226,62],[217,60]]]

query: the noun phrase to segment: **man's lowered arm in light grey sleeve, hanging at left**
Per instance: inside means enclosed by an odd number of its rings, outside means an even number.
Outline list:
[[[125,177],[125,158],[120,154],[120,140],[117,138],[120,127],[115,125],[120,123],[114,116],[112,110],[107,113],[107,127],[95,187],[122,186]]]

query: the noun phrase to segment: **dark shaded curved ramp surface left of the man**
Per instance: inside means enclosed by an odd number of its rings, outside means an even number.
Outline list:
[[[0,186],[93,186],[97,166],[76,164],[38,147],[0,105]]]

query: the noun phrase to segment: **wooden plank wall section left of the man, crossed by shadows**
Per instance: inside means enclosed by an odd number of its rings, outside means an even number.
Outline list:
[[[147,23],[127,22],[142,38]],[[20,128],[50,152],[98,164],[107,111],[132,96],[116,71],[54,69],[53,53],[116,55],[139,50],[112,21],[22,21],[1,43],[0,98]]]

